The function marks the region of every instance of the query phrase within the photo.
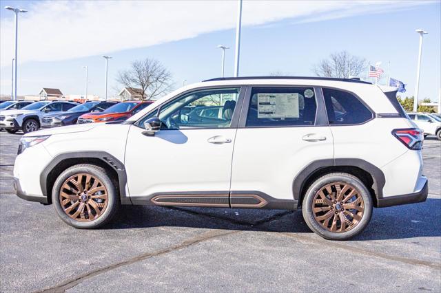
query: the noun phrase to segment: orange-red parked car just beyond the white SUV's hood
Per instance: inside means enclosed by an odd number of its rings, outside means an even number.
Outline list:
[[[138,113],[154,101],[149,100],[141,102],[140,100],[127,100],[119,102],[102,112],[85,113],[78,118],[77,124],[94,123],[94,122],[110,122],[126,120],[130,116]]]

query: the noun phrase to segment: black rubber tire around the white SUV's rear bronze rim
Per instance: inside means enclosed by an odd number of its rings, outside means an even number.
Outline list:
[[[354,224],[354,226],[350,228],[350,230],[348,229],[343,232],[331,232],[330,230],[325,228],[325,226],[323,226],[318,220],[316,220],[316,217],[313,213],[314,198],[316,197],[317,193],[322,190],[322,188],[325,188],[325,186],[328,186],[328,184],[333,184],[336,182],[349,184],[356,188],[356,190],[358,191],[358,193],[356,194],[360,195],[364,205],[364,211],[362,213],[360,221],[357,221],[357,224]],[[341,206],[343,206],[343,204],[341,204]],[[341,206],[339,205],[338,208],[340,208]],[[309,186],[305,197],[303,198],[302,213],[306,224],[312,231],[316,232],[316,234],[329,240],[347,240],[358,235],[360,232],[362,232],[362,230],[366,228],[367,224],[369,224],[372,215],[372,206],[373,205],[371,194],[367,190],[365,184],[363,184],[357,177],[347,173],[329,173],[318,178],[318,180],[316,180],[311,184],[311,186]],[[343,210],[345,209],[343,208]],[[331,212],[331,214],[334,213],[332,212],[332,210],[329,210],[326,213],[329,212]],[[334,215],[332,216],[333,219],[334,217],[336,217]]]

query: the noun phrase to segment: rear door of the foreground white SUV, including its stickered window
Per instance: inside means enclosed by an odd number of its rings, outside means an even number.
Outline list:
[[[294,178],[334,143],[321,92],[311,86],[248,87],[232,164],[232,208],[294,208]]]

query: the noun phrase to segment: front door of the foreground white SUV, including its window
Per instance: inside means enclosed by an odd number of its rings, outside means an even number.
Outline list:
[[[241,87],[197,89],[161,105],[130,127],[125,151],[134,204],[229,206],[232,154]],[[189,119],[185,109],[221,106],[225,118]],[[238,109],[238,111],[236,111]],[[185,113],[184,113],[185,112]],[[150,136],[143,122],[160,118]]]

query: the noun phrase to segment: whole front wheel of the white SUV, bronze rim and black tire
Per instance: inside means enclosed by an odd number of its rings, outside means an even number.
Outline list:
[[[116,186],[105,169],[79,164],[59,175],[52,188],[52,202],[65,223],[75,228],[99,228],[119,209]]]

